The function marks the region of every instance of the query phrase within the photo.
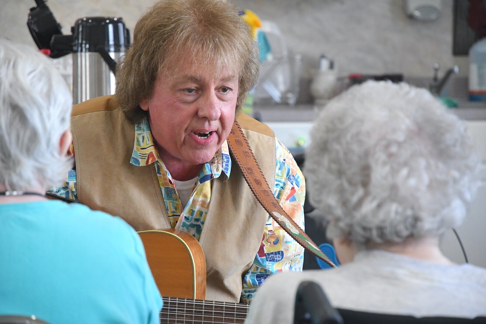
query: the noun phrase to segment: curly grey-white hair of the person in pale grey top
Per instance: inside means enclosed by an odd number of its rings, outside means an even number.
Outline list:
[[[323,109],[304,173],[311,203],[330,221],[328,237],[363,246],[459,225],[479,162],[465,123],[429,91],[367,81]]]

